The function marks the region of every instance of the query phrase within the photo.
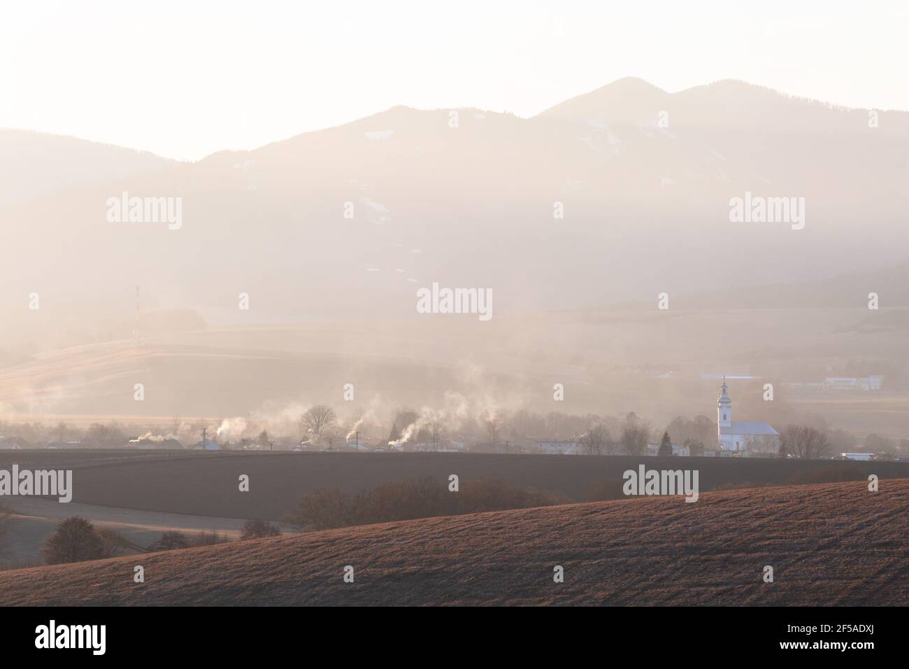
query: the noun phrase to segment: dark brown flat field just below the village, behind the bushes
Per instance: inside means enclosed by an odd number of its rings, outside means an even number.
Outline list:
[[[73,502],[222,518],[279,520],[304,492],[359,492],[425,476],[446,482],[502,478],[520,487],[590,499],[595,483],[621,481],[641,463],[656,469],[697,469],[700,490],[741,484],[783,484],[798,473],[842,469],[866,477],[909,477],[909,462],[638,458],[631,456],[487,453],[294,453],[201,451],[4,451],[0,467],[73,469]],[[249,492],[239,492],[247,474]]]

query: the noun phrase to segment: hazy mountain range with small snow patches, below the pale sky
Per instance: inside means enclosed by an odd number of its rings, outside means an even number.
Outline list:
[[[0,307],[20,315],[33,291],[61,314],[128,315],[140,286],[150,308],[215,322],[246,317],[240,292],[258,320],[399,318],[433,281],[534,312],[906,259],[909,113],[869,127],[867,110],[736,81],[669,94],[622,79],[531,118],[399,106],[195,163],[0,142],[15,176]],[[108,223],[124,192],[182,198],[182,227]],[[804,229],[731,223],[745,192],[804,198]]]

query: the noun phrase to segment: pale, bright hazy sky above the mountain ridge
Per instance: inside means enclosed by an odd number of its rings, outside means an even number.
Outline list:
[[[905,0],[29,0],[0,12],[0,127],[175,158],[395,105],[532,116],[623,76],[909,109]]]

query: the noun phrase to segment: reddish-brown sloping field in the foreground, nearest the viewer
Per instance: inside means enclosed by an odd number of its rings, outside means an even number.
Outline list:
[[[909,480],[478,513],[0,573],[0,605],[27,604],[904,606]]]

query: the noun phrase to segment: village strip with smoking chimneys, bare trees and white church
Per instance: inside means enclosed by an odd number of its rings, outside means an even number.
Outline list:
[[[842,380],[837,380],[842,381]],[[879,381],[878,381],[879,383]],[[835,387],[844,387],[838,383]],[[858,387],[868,387],[860,385]],[[874,388],[874,384],[871,388]],[[877,386],[879,387],[879,385]],[[654,429],[647,421],[629,413],[621,420],[591,421],[551,413],[540,416],[527,411],[514,414],[484,411],[476,420],[451,429],[438,415],[398,411],[390,431],[381,421],[360,417],[345,424],[335,411],[316,405],[299,420],[296,430],[286,425],[265,428],[255,433],[255,423],[245,419],[221,421],[218,428],[205,421],[182,422],[170,431],[146,430],[140,436],[127,436],[127,428],[116,422],[93,423],[79,431],[60,423],[56,438],[42,439],[41,427],[35,424],[16,426],[0,422],[0,451],[29,449],[80,450],[115,449],[135,451],[293,451],[293,452],[489,452],[540,455],[636,455],[650,457],[704,458],[807,458],[835,460],[900,460],[896,448],[874,450],[875,441],[846,444],[836,448],[823,431],[810,426],[789,425],[777,431],[765,421],[734,421],[733,400],[726,378],[722,377],[720,396],[716,400],[716,420],[705,416],[694,420],[678,418],[664,430]],[[238,434],[237,423],[242,434]],[[362,428],[362,429],[361,429]],[[305,434],[295,439],[294,432]],[[534,435],[546,431],[553,437]],[[23,436],[27,433],[31,439]],[[54,432],[48,430],[47,432]],[[567,433],[567,434],[566,434]],[[563,436],[566,435],[566,436]],[[195,437],[195,439],[194,439]],[[871,448],[869,448],[869,446]],[[894,444],[895,446],[895,444]],[[901,442],[900,446],[904,446]],[[894,454],[895,451],[895,454]]]

